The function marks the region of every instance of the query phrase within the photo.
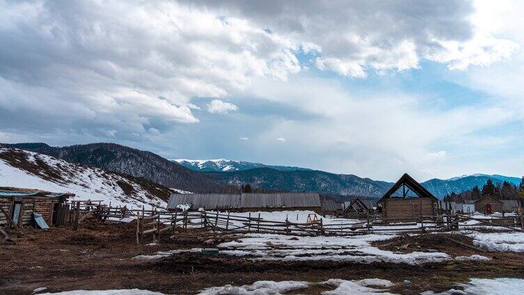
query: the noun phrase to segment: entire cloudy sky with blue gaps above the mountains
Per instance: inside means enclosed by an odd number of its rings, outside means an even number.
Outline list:
[[[524,174],[522,1],[3,1],[0,142]]]

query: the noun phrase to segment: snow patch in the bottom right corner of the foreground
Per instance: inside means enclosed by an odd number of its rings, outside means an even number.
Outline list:
[[[520,278],[472,278],[468,284],[460,284],[457,287],[463,290],[450,289],[447,292],[433,293],[424,292],[423,295],[520,295],[523,294],[524,280]]]

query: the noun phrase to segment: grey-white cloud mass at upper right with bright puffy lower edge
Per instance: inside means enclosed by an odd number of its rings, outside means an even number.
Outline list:
[[[471,1],[203,3],[295,40],[303,51],[316,52],[320,70],[347,77],[415,69],[424,58],[464,70],[509,58],[516,49],[513,41],[493,35],[496,28],[484,25],[486,17]]]

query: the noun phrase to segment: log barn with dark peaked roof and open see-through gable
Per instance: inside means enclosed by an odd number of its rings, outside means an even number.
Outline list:
[[[422,216],[435,216],[437,202],[433,194],[407,173],[378,201],[385,223],[418,221]]]

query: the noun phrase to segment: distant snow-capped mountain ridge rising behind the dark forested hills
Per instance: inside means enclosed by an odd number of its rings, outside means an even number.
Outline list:
[[[295,170],[311,170],[308,168],[291,167],[291,166],[274,166],[265,165],[261,163],[253,163],[247,161],[234,161],[227,159],[212,159],[212,160],[190,160],[190,159],[171,159],[178,164],[190,168],[191,170],[201,172],[231,172],[242,171],[254,168],[272,168],[281,171],[295,171]]]

